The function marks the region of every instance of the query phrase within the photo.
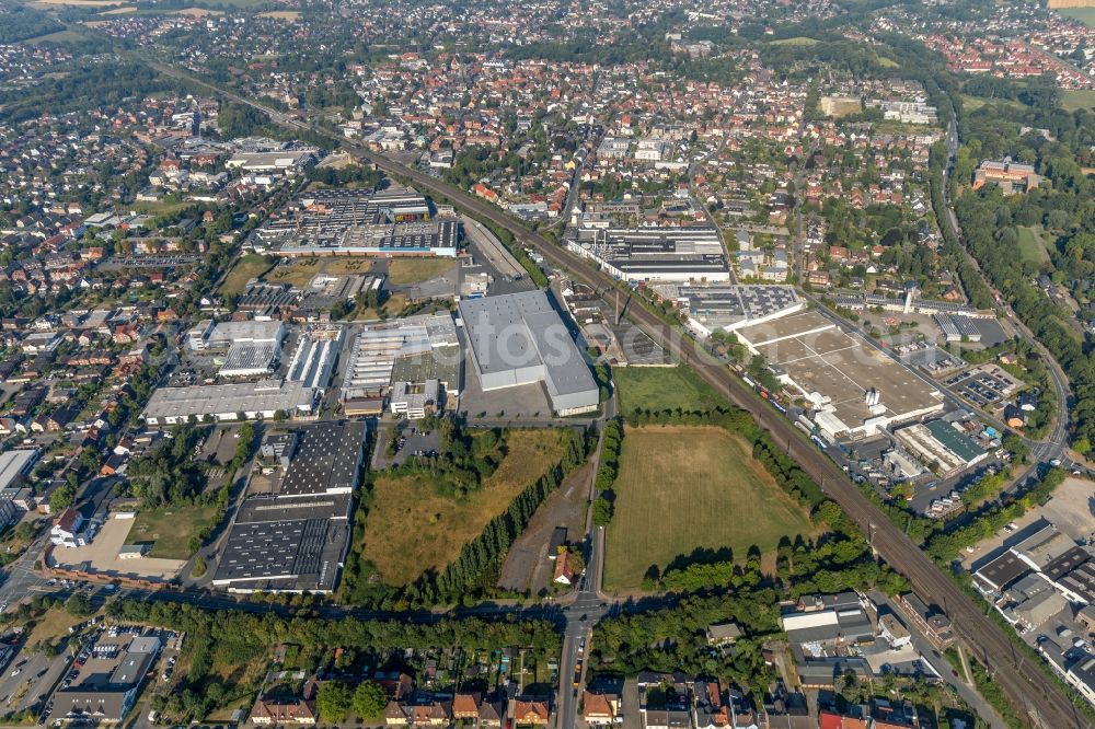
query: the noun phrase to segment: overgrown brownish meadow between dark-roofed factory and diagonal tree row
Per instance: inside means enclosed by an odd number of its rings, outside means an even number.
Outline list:
[[[377,478],[361,559],[372,563],[384,583],[403,586],[428,569],[443,569],[563,455],[560,430],[511,430],[506,443],[498,468],[463,498],[438,494],[428,473]]]

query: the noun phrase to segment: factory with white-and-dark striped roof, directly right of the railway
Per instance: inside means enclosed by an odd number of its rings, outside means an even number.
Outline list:
[[[708,224],[664,228],[572,228],[566,247],[625,281],[729,281],[718,230]]]

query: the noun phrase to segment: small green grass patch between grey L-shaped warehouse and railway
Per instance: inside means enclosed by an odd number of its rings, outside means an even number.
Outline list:
[[[702,410],[725,405],[726,398],[683,367],[619,367],[612,381],[620,395],[620,413],[636,407],[649,410]]]

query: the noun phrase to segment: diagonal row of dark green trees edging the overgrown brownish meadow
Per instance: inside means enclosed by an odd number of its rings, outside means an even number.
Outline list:
[[[405,591],[412,604],[451,603],[457,600],[472,602],[494,591],[497,570],[514,540],[525,531],[548,495],[586,460],[588,439],[577,429],[564,432],[566,444],[562,460],[518,494],[505,512],[487,522],[483,532],[464,544],[460,556],[443,571],[439,575],[426,572],[408,586]]]

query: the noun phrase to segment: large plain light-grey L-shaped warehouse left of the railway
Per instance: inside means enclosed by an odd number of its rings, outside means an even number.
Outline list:
[[[461,301],[460,319],[484,391],[541,382],[560,415],[597,408],[597,383],[543,291]]]

